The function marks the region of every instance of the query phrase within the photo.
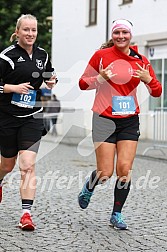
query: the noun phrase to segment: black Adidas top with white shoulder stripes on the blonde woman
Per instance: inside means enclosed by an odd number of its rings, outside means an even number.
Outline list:
[[[32,57],[17,43],[6,48],[0,53],[0,110],[14,116],[28,116],[41,110],[40,86],[43,81],[50,79],[53,71],[48,54],[43,48],[34,45]],[[25,104],[22,107],[16,105],[18,103],[12,101],[13,93],[3,93],[5,84],[18,85],[25,82],[30,82],[35,90],[36,97],[34,96],[31,107]],[[31,99],[29,96],[24,97],[29,98]]]

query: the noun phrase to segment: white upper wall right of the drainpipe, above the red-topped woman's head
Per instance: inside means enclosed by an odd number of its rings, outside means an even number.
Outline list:
[[[132,4],[122,6],[118,6],[119,2],[110,1],[111,21],[118,18],[132,21],[135,36],[166,32],[166,0],[133,0]]]

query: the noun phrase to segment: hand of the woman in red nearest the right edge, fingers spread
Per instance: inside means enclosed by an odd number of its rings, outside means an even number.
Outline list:
[[[152,80],[152,77],[150,76],[150,72],[149,72],[150,64],[148,65],[143,64],[143,67],[141,67],[136,62],[136,65],[138,66],[139,69],[135,71],[136,75],[133,75],[133,77],[140,78],[141,81],[148,84]]]

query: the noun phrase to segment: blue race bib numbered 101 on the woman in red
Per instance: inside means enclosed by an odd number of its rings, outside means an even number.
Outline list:
[[[129,115],[135,114],[136,106],[133,96],[113,96],[112,97],[112,114]]]

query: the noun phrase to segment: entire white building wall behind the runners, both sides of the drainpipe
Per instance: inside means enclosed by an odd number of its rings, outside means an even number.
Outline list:
[[[94,91],[81,91],[78,80],[91,55],[106,40],[106,3],[107,0],[98,0],[97,25],[88,27],[88,0],[53,0],[52,61],[59,79],[53,92],[63,107],[80,111],[81,127],[86,125],[91,128]],[[132,40],[138,45],[139,52],[150,58],[149,47],[153,46],[155,54],[159,50],[163,55],[167,47],[167,1],[133,0],[131,4],[121,3],[121,0],[109,0],[108,26],[111,27],[115,19],[129,19],[134,26]],[[152,139],[153,111],[148,110],[149,95],[142,83],[138,98],[141,106],[141,137]],[[71,118],[75,116],[75,113],[71,114]],[[63,127],[66,126],[69,127]]]

